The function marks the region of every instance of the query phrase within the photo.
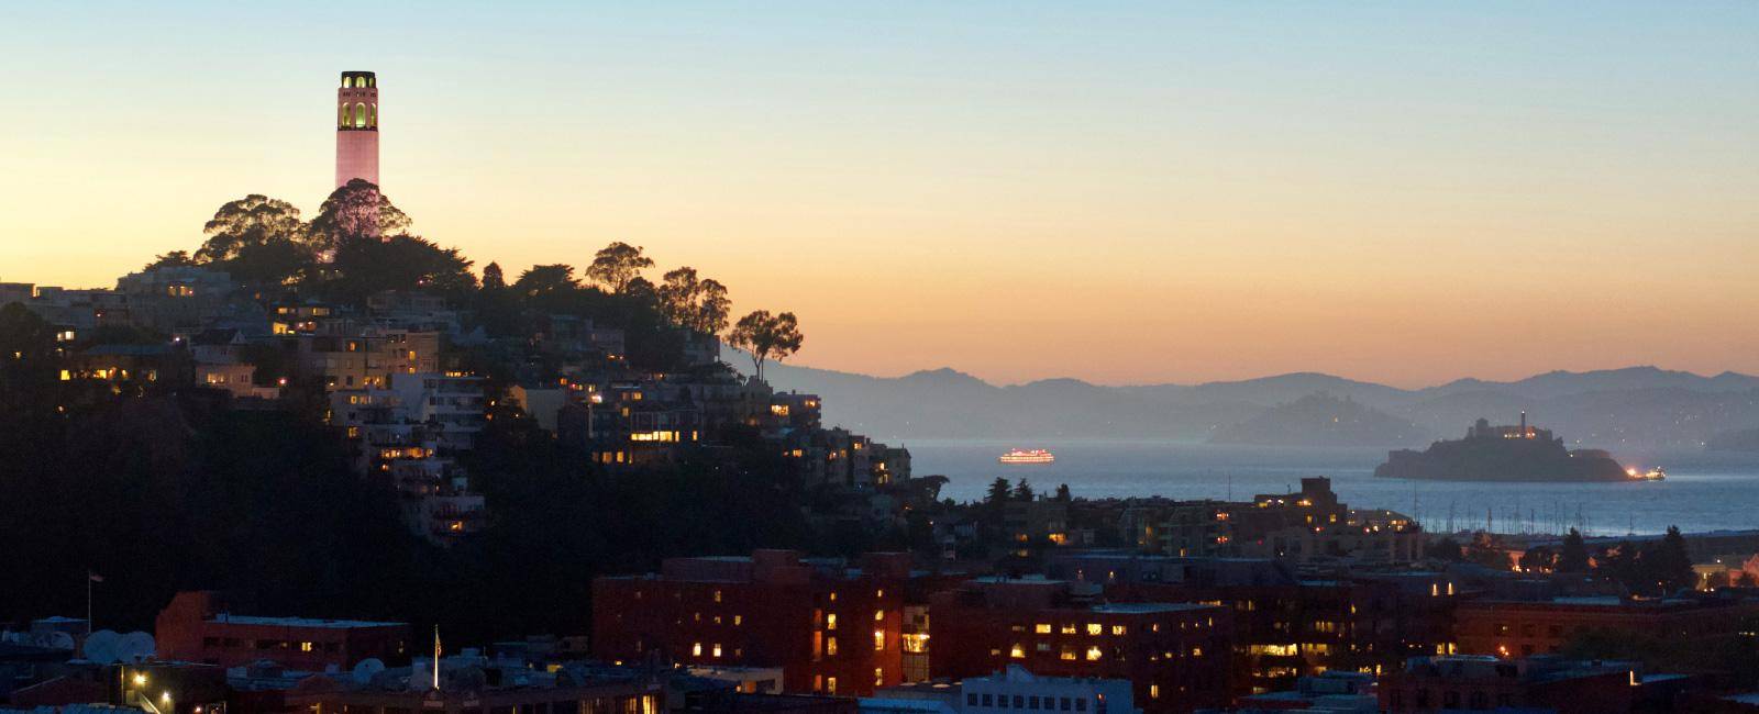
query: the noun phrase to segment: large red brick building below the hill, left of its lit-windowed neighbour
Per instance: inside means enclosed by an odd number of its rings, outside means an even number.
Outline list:
[[[860,568],[793,550],[672,557],[593,582],[593,654],[609,661],[781,667],[790,693],[867,695],[902,681],[908,554]]]

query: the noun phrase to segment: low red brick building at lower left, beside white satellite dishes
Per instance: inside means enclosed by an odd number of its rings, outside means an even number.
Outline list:
[[[222,610],[215,593],[178,593],[155,623],[158,656],[220,667],[271,659],[324,672],[366,658],[408,658],[410,626],[352,619],[250,617]]]

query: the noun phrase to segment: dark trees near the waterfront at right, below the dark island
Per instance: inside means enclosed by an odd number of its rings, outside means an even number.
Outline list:
[[[1514,566],[1509,552],[1499,547],[1488,533],[1474,535],[1472,542],[1463,547],[1451,536],[1442,536],[1428,543],[1427,554],[1435,559],[1478,563],[1497,570]],[[1631,593],[1646,594],[1675,593],[1697,584],[1692,557],[1678,526],[1668,526],[1668,533],[1660,540],[1643,547],[1620,542],[1597,554],[1590,554],[1581,531],[1571,528],[1557,549],[1548,545],[1527,549],[1520,557],[1520,568],[1534,573],[1609,579],[1624,584]]]

